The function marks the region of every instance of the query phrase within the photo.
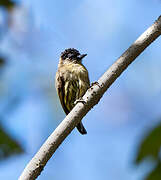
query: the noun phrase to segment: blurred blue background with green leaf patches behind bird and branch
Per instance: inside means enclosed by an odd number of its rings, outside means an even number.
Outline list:
[[[87,53],[91,82],[161,14],[160,0],[0,1],[0,179],[18,179],[64,119],[54,77],[65,48]],[[161,38],[50,159],[39,180],[161,179]]]

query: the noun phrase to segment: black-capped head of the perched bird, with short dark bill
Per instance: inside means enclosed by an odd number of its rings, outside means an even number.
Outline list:
[[[87,56],[87,54],[80,54],[79,51],[74,48],[65,49],[65,51],[61,53],[62,60],[76,63],[81,63],[85,56]]]

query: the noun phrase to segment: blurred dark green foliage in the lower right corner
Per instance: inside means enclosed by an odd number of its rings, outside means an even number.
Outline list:
[[[156,164],[154,169],[146,176],[145,180],[161,179],[161,123],[152,129],[143,139],[138,148],[138,154],[135,160],[136,164],[141,163],[144,159]]]

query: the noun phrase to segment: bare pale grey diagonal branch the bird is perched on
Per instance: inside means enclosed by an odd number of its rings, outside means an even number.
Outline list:
[[[28,163],[19,177],[19,180],[34,180],[40,175],[44,166],[63,140],[70,134],[90,109],[99,102],[105,91],[128,67],[128,65],[130,65],[136,57],[160,35],[161,16],[122,54],[122,56],[120,56],[120,58],[118,58],[98,82],[94,83],[93,86],[88,89],[83,96],[83,100],[86,103],[83,104],[79,102],[66,116]]]

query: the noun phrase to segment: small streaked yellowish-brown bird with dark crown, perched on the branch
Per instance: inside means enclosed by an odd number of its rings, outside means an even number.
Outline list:
[[[55,87],[66,115],[90,87],[88,71],[82,64],[82,59],[86,55],[80,54],[74,48],[66,49],[61,53]],[[77,125],[77,129],[81,134],[87,134],[82,122]]]

